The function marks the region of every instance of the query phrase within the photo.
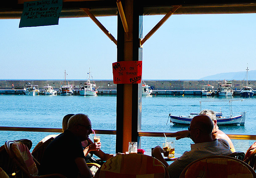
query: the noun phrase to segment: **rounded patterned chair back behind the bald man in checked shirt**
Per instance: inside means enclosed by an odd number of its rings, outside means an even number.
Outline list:
[[[205,157],[188,164],[180,178],[256,178],[256,172],[245,162],[228,156]]]

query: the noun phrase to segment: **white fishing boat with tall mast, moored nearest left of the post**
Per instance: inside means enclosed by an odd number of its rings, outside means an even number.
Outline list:
[[[91,83],[91,70],[89,68],[89,72],[87,73],[89,75],[89,78],[84,83],[84,85],[78,90],[78,93],[82,96],[89,96],[89,95],[97,95],[98,93],[98,87],[93,82]]]

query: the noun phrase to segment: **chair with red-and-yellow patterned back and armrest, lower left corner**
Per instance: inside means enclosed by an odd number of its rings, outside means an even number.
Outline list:
[[[33,161],[32,155],[22,142],[6,141],[5,148],[14,164],[20,168],[22,177],[62,177],[61,174],[47,174],[38,176],[38,169]]]

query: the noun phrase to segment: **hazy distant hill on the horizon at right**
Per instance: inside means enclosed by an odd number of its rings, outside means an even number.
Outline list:
[[[209,75],[200,80],[246,80],[246,72],[227,72]],[[256,70],[248,72],[248,80],[256,80]]]

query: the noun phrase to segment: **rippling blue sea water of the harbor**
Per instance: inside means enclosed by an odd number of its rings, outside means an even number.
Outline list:
[[[231,100],[231,102],[229,102]],[[226,134],[256,134],[256,97],[240,96],[200,96],[200,95],[149,95],[142,96],[141,130],[147,132],[176,132],[187,130],[188,126],[173,125],[169,114],[188,116],[189,113],[210,109],[223,116],[239,115],[246,111],[244,126],[219,126]],[[44,95],[0,95],[0,126],[62,128],[62,118],[66,114],[87,114],[95,130],[116,130],[116,95],[96,96],[44,96]],[[230,105],[232,107],[230,107]],[[231,110],[232,109],[232,110]],[[47,132],[0,131],[0,145],[6,140],[30,139],[35,145]],[[116,136],[101,134],[101,149],[105,153],[115,153]],[[92,139],[93,135],[90,135]],[[141,137],[141,149],[147,152],[157,145],[163,145],[164,137]],[[175,138],[167,137],[167,140]],[[232,140],[236,151],[246,150],[255,140]],[[190,150],[190,138],[175,140],[175,152]],[[117,143],[120,144],[120,143]],[[128,145],[127,145],[128,147]]]

